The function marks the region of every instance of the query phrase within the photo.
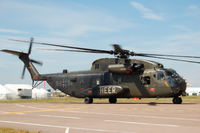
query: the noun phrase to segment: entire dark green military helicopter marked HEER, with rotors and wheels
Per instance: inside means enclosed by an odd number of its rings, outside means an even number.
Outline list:
[[[12,39],[11,39],[12,40]],[[12,40],[18,42],[30,43],[28,53],[13,50],[1,50],[10,54],[17,55],[24,62],[22,78],[25,68],[28,69],[33,85],[38,81],[47,81],[53,89],[59,89],[72,97],[85,98],[85,103],[93,103],[93,98],[109,98],[110,103],[116,103],[117,98],[166,98],[172,97],[174,104],[181,104],[182,99],[179,96],[186,96],[186,82],[173,69],[164,68],[163,64],[149,61],[130,59],[130,56],[143,56],[152,58],[161,58],[167,60],[184,61],[190,63],[200,63],[188,60],[179,60],[168,57],[200,58],[196,56],[178,56],[162,54],[135,53],[122,49],[115,44],[114,50],[98,50],[90,48],[81,48],[49,43],[39,43],[22,40]],[[85,53],[104,53],[114,55],[115,58],[102,58],[95,60],[92,67],[87,71],[62,73],[40,74],[33,63],[42,64],[39,61],[29,59],[32,44],[40,44],[54,47],[70,48],[53,49],[57,51],[85,52]],[[52,49],[46,49],[52,50]],[[34,82],[36,83],[34,84]]]

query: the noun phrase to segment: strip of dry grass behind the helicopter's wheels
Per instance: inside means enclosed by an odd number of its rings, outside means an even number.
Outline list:
[[[200,103],[200,96],[187,96],[182,97],[183,103]],[[125,99],[118,98],[117,103],[169,103],[172,102],[172,98],[143,98],[139,99]],[[62,98],[46,98],[46,99],[15,99],[15,100],[0,100],[0,103],[84,103],[82,98],[73,98],[73,97],[62,97]],[[94,99],[93,103],[109,103],[108,99]]]

